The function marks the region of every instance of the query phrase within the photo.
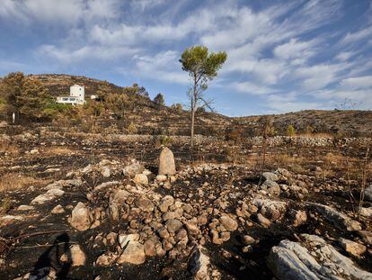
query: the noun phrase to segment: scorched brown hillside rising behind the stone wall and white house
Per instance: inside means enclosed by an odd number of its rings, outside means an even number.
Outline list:
[[[113,94],[123,94],[123,87],[89,77],[64,74],[29,75],[29,77],[39,80],[48,88],[52,96],[68,95],[69,86],[74,84],[85,87],[86,97],[95,95],[102,85],[108,86]],[[189,134],[190,114],[187,111],[177,112],[167,106],[159,108],[152,100],[142,95],[135,96],[135,101],[134,110],[126,112],[120,122],[103,116],[100,120],[102,126],[114,125],[118,128],[125,128],[133,123],[137,126],[138,133]],[[240,134],[244,137],[252,136],[259,131],[260,118],[261,116],[233,118],[218,113],[198,113],[196,132],[223,136],[226,130],[236,130],[241,131]],[[301,133],[337,132],[348,136],[369,136],[372,131],[372,112],[370,111],[306,110],[270,115],[270,119],[278,134],[286,134],[289,124]]]

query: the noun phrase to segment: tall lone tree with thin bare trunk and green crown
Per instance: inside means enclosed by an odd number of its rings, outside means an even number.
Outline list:
[[[204,99],[203,92],[208,88],[208,81],[217,76],[217,71],[227,59],[226,51],[208,53],[208,48],[203,46],[193,46],[182,53],[180,62],[182,70],[189,72],[192,86],[189,90],[190,109],[191,109],[191,149],[194,143],[194,122],[195,113],[198,107],[210,107],[210,101]]]

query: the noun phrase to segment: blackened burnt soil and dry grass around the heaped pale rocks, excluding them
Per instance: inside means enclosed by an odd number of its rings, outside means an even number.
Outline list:
[[[86,193],[94,186],[108,181],[127,182],[128,178],[120,172],[110,177],[83,176],[83,186],[66,186],[65,194],[52,202],[39,204],[29,212],[17,210],[20,205],[30,205],[31,200],[37,195],[44,194],[45,190],[42,187],[70,178],[70,172],[89,164],[97,165],[102,160],[117,162],[119,169],[128,163],[128,158],[136,158],[156,174],[157,158],[162,149],[159,143],[155,140],[108,141],[83,133],[42,135],[29,132],[30,135],[25,133],[11,135],[11,140],[4,141],[6,143],[0,152],[1,176],[15,174],[33,178],[30,183],[25,182],[22,188],[4,190],[0,193],[2,205],[0,216],[22,216],[22,221],[4,223],[0,228],[0,255],[4,259],[4,263],[0,263],[0,279],[13,279],[44,266],[54,267],[59,278],[68,279],[93,279],[96,276],[100,276],[101,279],[191,277],[188,257],[171,258],[167,255],[146,257],[146,262],[139,266],[128,264],[94,266],[97,257],[107,250],[105,245],[93,242],[95,237],[111,231],[125,230],[128,223],[113,224],[107,220],[98,228],[79,231],[71,227],[68,218],[76,203],[92,203],[87,199]],[[227,142],[200,144],[192,157],[187,144],[173,142],[170,146],[176,158],[177,169],[190,170],[178,176],[171,188],[159,185],[155,188],[155,193],[162,196],[170,194],[192,206],[212,207],[235,214],[240,203],[249,197],[248,194],[258,192],[262,151],[260,146],[244,147]],[[30,152],[32,149],[38,151],[32,153]],[[300,197],[296,194],[280,195],[280,200],[289,204],[288,208],[303,210],[306,209],[306,202],[323,203],[332,205],[335,209],[357,219],[352,212],[342,163],[347,157],[350,166],[358,170],[365,150],[361,147],[348,147],[347,153],[345,150],[339,147],[271,147],[267,150],[264,169],[274,171],[278,167],[287,168],[294,175],[293,180],[307,185],[308,194]],[[224,163],[226,168],[210,170],[193,168],[204,163]],[[349,176],[351,192],[358,200],[360,173],[350,171]],[[150,181],[154,177],[149,176]],[[3,182],[3,185],[11,183]],[[287,181],[281,183],[288,184]],[[51,210],[58,204],[62,205],[66,212],[51,214]],[[296,241],[301,233],[320,235],[342,254],[349,256],[338,244],[337,239],[343,237],[355,240],[359,238],[358,234],[336,228],[314,210],[306,211],[308,216],[306,223],[296,228],[291,224],[288,214],[280,221],[272,222],[269,229],[262,227],[253,214],[250,219],[252,226],[233,232],[231,238],[223,244],[216,245],[207,239],[205,247],[210,253],[211,264],[219,271],[222,279],[271,279],[273,275],[267,266],[270,248],[278,245],[282,239]],[[365,230],[371,230],[370,220],[361,218],[360,222]],[[208,235],[207,227],[202,227],[201,230]],[[258,240],[247,252],[242,250],[244,234]],[[86,266],[68,266],[59,260],[66,252],[68,244],[81,246],[86,253]],[[371,248],[363,257],[350,258],[361,268],[372,272]]]

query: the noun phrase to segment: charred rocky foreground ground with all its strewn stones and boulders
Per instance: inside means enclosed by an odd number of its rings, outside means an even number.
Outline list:
[[[358,215],[360,181],[325,172],[329,147],[272,147],[306,161],[261,176],[212,140],[193,164],[182,140],[2,140],[1,279],[372,279],[371,179]]]

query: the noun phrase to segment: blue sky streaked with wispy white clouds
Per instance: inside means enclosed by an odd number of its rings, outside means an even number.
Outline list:
[[[226,50],[217,113],[372,110],[370,0],[1,0],[0,76],[136,82],[186,106],[193,45]]]

